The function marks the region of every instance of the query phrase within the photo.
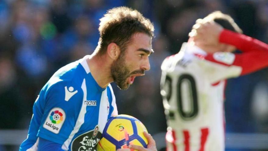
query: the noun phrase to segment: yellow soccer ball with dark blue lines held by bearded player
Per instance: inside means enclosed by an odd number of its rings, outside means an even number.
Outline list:
[[[115,151],[120,148],[128,148],[129,145],[146,148],[148,140],[143,135],[143,131],[148,132],[135,117],[124,114],[111,117],[105,125],[97,150]]]

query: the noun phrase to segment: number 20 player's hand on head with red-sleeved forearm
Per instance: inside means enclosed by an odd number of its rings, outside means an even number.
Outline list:
[[[216,45],[220,42],[233,45],[243,52],[268,50],[266,43],[244,34],[226,30],[215,22],[197,22],[189,36],[201,45]]]

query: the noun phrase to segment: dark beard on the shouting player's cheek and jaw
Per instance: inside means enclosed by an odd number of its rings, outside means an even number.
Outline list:
[[[125,62],[125,55],[121,53],[117,60],[111,66],[111,75],[118,88],[126,90],[129,88],[127,78],[130,76],[130,70]]]

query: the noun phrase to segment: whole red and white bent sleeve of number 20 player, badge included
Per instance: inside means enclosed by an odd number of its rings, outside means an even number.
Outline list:
[[[220,42],[233,45],[242,51],[240,54],[216,52],[204,57],[202,67],[210,81],[217,82],[226,78],[238,77],[268,67],[268,45],[229,30],[220,34]]]

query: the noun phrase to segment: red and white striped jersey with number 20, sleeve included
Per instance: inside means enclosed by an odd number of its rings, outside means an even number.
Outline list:
[[[220,42],[244,53],[208,54],[184,43],[178,54],[162,63],[168,151],[224,151],[226,79],[268,66],[268,46],[264,43],[228,30],[221,33]]]

